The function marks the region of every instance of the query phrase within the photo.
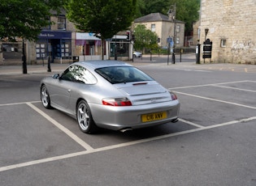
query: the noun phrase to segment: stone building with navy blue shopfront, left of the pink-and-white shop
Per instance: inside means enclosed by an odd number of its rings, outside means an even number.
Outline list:
[[[74,24],[66,19],[65,12],[49,17],[49,25],[42,27],[35,42],[24,40],[25,55],[28,64],[69,62],[75,49]],[[50,24],[50,22],[54,24]],[[22,39],[16,42],[2,42],[0,65],[20,65],[22,63]]]

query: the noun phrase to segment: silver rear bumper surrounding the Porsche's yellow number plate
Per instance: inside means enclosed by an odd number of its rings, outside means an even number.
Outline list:
[[[140,129],[168,122],[176,122],[180,112],[178,100],[158,104],[130,107],[112,107],[98,104],[89,105],[96,125],[106,129]],[[167,112],[167,118],[142,122],[141,115],[154,112]]]

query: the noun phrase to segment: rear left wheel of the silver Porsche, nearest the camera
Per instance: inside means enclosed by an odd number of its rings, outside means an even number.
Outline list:
[[[89,105],[81,100],[76,107],[76,119],[78,126],[83,133],[95,133],[98,130],[95,125]]]

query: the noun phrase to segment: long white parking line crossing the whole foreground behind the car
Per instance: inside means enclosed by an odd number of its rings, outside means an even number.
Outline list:
[[[182,131],[182,132],[178,132],[178,133],[170,133],[170,134],[166,134],[166,135],[158,136],[158,137],[150,137],[150,138],[141,139],[141,140],[137,140],[137,141],[133,141],[133,142],[120,143],[120,144],[113,145],[113,146],[104,146],[104,147],[101,147],[101,148],[98,148],[98,149],[85,150],[85,151],[72,153],[72,154],[64,154],[64,155],[60,155],[60,156],[54,156],[54,157],[51,157],[51,158],[48,158],[48,159],[38,159],[38,160],[30,161],[30,162],[27,162],[27,163],[18,163],[18,164],[6,166],[6,167],[0,167],[0,172],[1,171],[8,171],[8,170],[19,168],[19,167],[27,167],[27,166],[31,166],[31,165],[36,165],[36,164],[39,164],[39,163],[48,163],[48,162],[53,162],[53,161],[57,161],[57,160],[60,160],[60,159],[73,158],[73,157],[77,157],[77,156],[80,156],[80,155],[91,154],[91,153],[101,152],[101,151],[105,151],[105,150],[113,150],[113,149],[117,149],[117,148],[125,147],[125,146],[137,145],[137,144],[140,144],[140,143],[143,143],[143,142],[151,142],[151,141],[155,141],[155,140],[164,139],[164,138],[167,138],[167,137],[175,137],[175,136],[180,136],[180,135],[184,135],[184,134],[187,134],[187,133],[195,133],[195,132],[206,130],[206,129],[214,129],[214,128],[218,128],[218,127],[222,127],[222,126],[233,125],[233,124],[236,124],[236,123],[243,123],[243,122],[250,121],[250,120],[256,120],[256,116],[245,118],[245,119],[242,119],[242,120],[232,120],[230,122],[226,122],[226,123],[218,124],[218,125],[210,125],[210,126],[207,126],[207,127],[201,127],[201,128],[197,128],[197,129],[190,129],[190,130],[186,130],[186,131]]]

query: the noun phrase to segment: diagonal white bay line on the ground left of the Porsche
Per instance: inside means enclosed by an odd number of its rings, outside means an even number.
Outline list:
[[[86,150],[93,150],[92,146],[89,146],[89,144],[87,144],[86,142],[81,140],[79,137],[77,137],[75,133],[72,133],[69,129],[67,129],[63,125],[59,124],[58,121],[52,119],[45,112],[42,112],[39,108],[37,108],[36,106],[34,106],[31,103],[26,103],[26,104],[28,104],[29,107],[33,108],[36,112],[41,114],[41,116],[44,116],[46,118],[46,120],[49,120],[53,125],[55,125],[59,129],[61,129],[64,133],[67,134],[67,136],[71,137],[74,141],[76,141],[78,144],[80,144],[80,146],[83,146]]]

